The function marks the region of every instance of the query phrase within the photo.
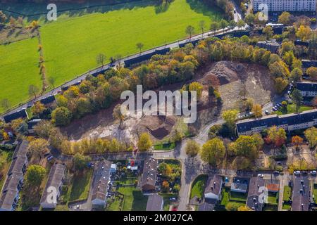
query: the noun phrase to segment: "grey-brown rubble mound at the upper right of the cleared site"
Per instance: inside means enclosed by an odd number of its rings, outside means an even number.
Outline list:
[[[221,85],[235,82],[242,78],[245,74],[245,65],[242,63],[233,63],[229,61],[220,61],[211,67],[211,70],[201,79],[201,84],[208,84],[210,77],[216,76],[219,79]]]

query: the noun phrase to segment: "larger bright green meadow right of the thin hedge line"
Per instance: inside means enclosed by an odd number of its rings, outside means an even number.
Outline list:
[[[56,85],[63,84],[97,67],[99,53],[104,53],[107,60],[118,54],[128,56],[138,52],[138,42],[144,44],[142,50],[151,49],[185,38],[188,25],[199,33],[200,20],[205,20],[209,28],[211,20],[222,18],[215,8],[207,10],[197,2],[190,5],[186,0],[175,0],[161,13],[148,1],[141,1],[130,3],[130,9],[79,17],[63,14],[40,28],[46,73],[56,78]]]

